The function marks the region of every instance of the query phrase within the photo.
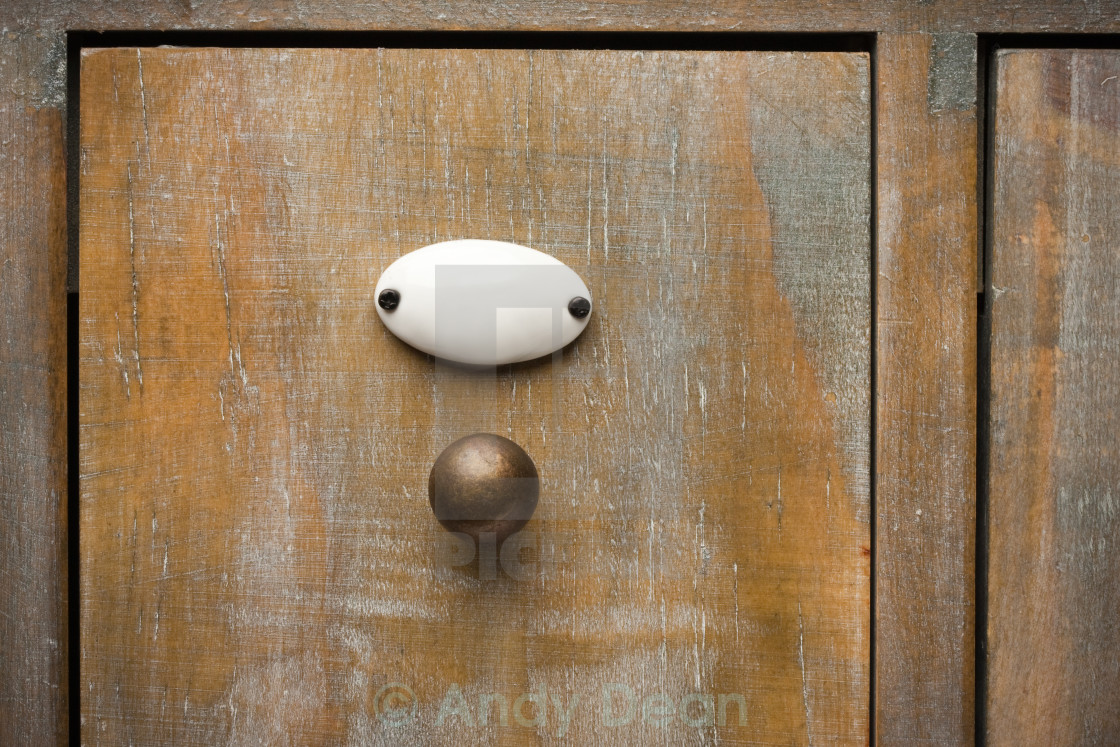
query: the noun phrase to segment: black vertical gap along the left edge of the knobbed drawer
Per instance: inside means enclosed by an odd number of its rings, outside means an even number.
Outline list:
[[[78,554],[78,297],[77,231],[80,148],[78,111],[82,48],[66,35],[66,703],[69,743],[82,743],[81,670],[82,586]]]

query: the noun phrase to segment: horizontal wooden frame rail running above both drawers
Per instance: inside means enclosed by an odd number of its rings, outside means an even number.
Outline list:
[[[10,29],[521,29],[634,31],[1120,31],[1120,2],[1089,0],[10,0]]]

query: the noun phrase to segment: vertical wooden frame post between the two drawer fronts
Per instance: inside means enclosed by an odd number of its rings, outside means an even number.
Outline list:
[[[971,744],[976,37],[878,45],[876,736]]]

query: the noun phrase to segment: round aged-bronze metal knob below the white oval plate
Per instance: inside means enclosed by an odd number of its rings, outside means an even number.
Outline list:
[[[492,532],[498,544],[529,522],[540,492],[536,466],[525,450],[493,433],[451,443],[428,477],[428,501],[445,529],[476,541]]]

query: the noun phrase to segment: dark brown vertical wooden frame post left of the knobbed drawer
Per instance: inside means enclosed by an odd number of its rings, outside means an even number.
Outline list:
[[[66,726],[66,204],[49,37],[0,40],[0,744]],[[45,105],[46,104],[46,105]]]

